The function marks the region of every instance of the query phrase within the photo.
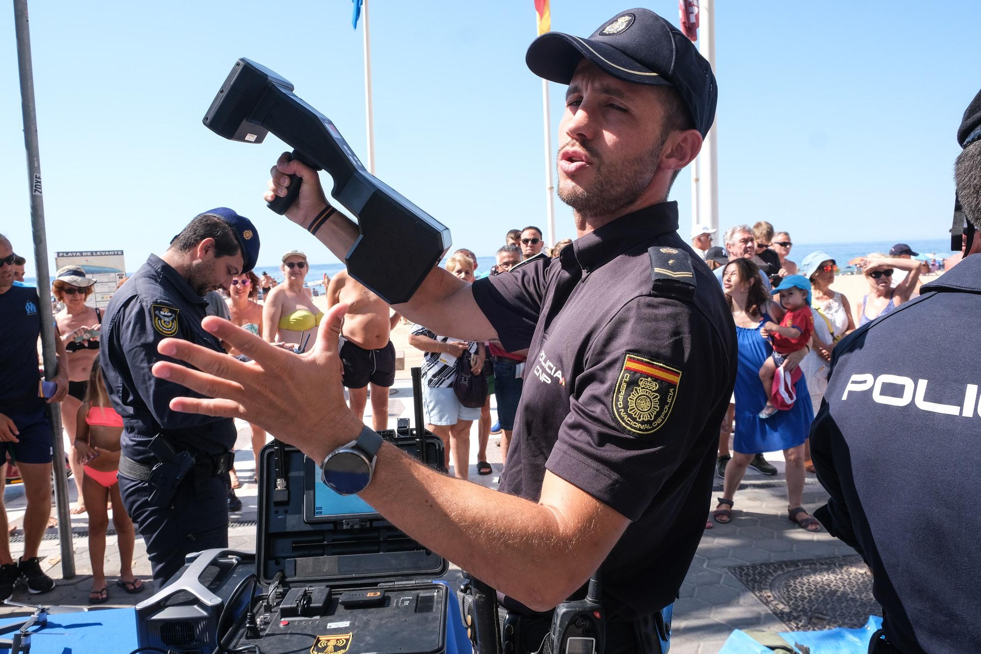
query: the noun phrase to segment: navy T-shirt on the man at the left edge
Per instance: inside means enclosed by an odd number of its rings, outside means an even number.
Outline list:
[[[51,316],[47,309],[45,315]],[[0,413],[23,413],[44,406],[38,397],[37,338],[40,301],[32,286],[11,286],[0,293]]]

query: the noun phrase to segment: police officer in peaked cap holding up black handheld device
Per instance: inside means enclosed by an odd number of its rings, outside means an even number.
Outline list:
[[[255,363],[165,340],[162,352],[205,374],[164,363],[154,374],[217,398],[180,398],[172,409],[247,412],[324,462],[329,484],[340,480],[334,462],[359,452],[371,466],[346,492],[507,595],[514,612],[552,609],[601,566],[606,652],[659,652],[660,611],[701,537],[736,374],[719,284],[666,201],[712,125],[715,77],[684,34],[645,9],[616,14],[589,38],[543,34],[527,62],[568,84],[559,196],[579,237],[556,259],[472,285],[434,269],[395,307],[437,333],[528,348],[503,493],[402,456],[354,418],[336,353],[344,305],[303,357],[209,318],[207,329]],[[292,173],[303,183],[287,216],[344,256],[357,227],[332,215],[309,168],[281,158],[267,200],[285,194]]]

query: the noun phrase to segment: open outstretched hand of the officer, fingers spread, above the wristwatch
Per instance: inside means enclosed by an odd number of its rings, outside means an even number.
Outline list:
[[[181,338],[165,338],[157,350],[197,370],[158,361],[153,375],[206,396],[176,397],[170,402],[172,410],[240,418],[320,460],[364,428],[344,403],[340,385],[337,337],[346,312],[346,304],[331,307],[317,343],[303,354],[276,347],[229,321],[209,316],[201,327],[252,361],[244,363]]]

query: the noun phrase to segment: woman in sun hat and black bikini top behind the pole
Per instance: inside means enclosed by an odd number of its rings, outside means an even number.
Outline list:
[[[68,352],[68,395],[62,400],[62,415],[75,416],[78,407],[85,400],[88,389],[88,376],[92,372],[92,363],[99,356],[99,327],[102,323],[102,313],[85,304],[85,300],[95,290],[95,279],[85,277],[85,271],[78,266],[65,266],[58,269],[55,280],[51,284],[51,292],[59,302],[65,303],[65,308],[55,314],[55,324],[65,350]],[[78,498],[71,513],[85,513],[85,500],[81,492],[81,482],[84,478],[82,467],[77,462],[75,437],[76,422],[62,421],[68,434],[70,445],[69,465],[78,491]]]

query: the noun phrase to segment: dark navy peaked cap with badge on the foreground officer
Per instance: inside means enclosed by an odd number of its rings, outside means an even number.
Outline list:
[[[677,27],[648,9],[629,9],[599,25],[589,38],[549,31],[532,41],[532,73],[568,84],[583,57],[617,79],[673,86],[704,136],[715,120],[718,88],[712,68]]]

